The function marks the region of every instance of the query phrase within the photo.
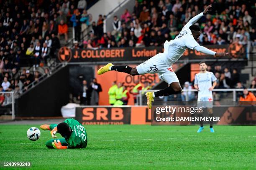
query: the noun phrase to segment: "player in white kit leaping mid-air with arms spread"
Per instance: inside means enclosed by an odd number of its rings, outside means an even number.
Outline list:
[[[188,48],[192,50],[197,50],[199,52],[215,55],[217,57],[228,55],[228,53],[220,53],[209,50],[197,43],[199,36],[201,34],[201,29],[198,25],[193,25],[199,20],[203,15],[207,13],[212,5],[208,5],[205,10],[193,17],[189,22],[182,28],[179,35],[175,37],[174,40],[164,42],[164,53],[159,53],[149,60],[141,63],[137,67],[129,67],[128,65],[114,66],[112,63],[101,67],[97,74],[101,75],[108,71],[118,71],[125,72],[130,75],[143,75],[146,73],[158,73],[159,79],[164,80],[169,84],[163,90],[157,92],[146,92],[147,105],[151,109],[151,104],[154,101],[154,97],[158,96],[168,96],[181,93],[182,87],[179,84],[179,79],[175,72],[172,70],[172,64],[176,62],[179,57],[182,56],[184,51]]]

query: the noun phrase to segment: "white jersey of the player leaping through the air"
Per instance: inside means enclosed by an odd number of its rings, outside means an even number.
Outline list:
[[[196,15],[194,18],[189,20],[174,40],[166,40],[164,42],[164,57],[166,62],[173,64],[182,56],[187,47],[193,50],[196,46],[199,46],[189,27],[196,23],[202,16],[202,13]]]

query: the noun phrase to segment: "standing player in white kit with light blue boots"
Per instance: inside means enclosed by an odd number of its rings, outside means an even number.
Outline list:
[[[212,90],[217,84],[217,78],[212,72],[207,71],[206,62],[202,61],[199,63],[200,72],[195,75],[195,89],[198,90],[197,101],[199,101],[200,107],[206,107],[207,112],[210,117],[212,117]],[[212,83],[213,82],[213,83]],[[202,132],[204,125],[202,120],[200,120],[200,128],[197,130],[197,133]],[[212,127],[212,121],[210,121],[210,132],[214,133]]]

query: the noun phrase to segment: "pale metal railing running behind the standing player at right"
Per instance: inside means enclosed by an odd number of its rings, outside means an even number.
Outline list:
[[[146,98],[145,97],[146,92],[156,92],[156,91],[159,91],[159,90],[140,90],[139,95],[137,96],[137,101],[139,101],[138,104],[143,105],[143,99]],[[256,89],[248,88],[248,91],[256,91]],[[198,92],[198,91],[195,89],[191,89],[191,90],[182,90],[182,92],[185,92],[186,99],[188,99],[188,92]],[[237,101],[237,92],[242,93],[243,89],[213,89],[212,92],[229,92],[229,93],[232,92],[233,101]]]

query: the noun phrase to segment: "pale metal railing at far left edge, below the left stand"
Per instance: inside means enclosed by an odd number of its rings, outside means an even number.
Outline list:
[[[0,92],[0,95],[4,94],[6,97],[6,94],[10,94],[12,100],[11,103],[3,103],[0,105],[0,115],[12,115],[12,120],[15,119],[15,109],[14,109],[14,104],[15,104],[15,98],[14,98],[14,92]],[[5,104],[5,105],[3,105]],[[2,114],[4,112],[4,114]]]

